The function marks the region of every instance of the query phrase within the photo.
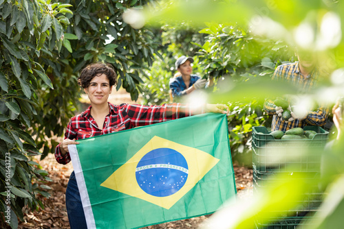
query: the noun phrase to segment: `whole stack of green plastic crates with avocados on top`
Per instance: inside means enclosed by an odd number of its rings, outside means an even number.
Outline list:
[[[290,178],[300,173],[307,173],[308,178],[319,178],[321,167],[321,152],[328,140],[328,132],[317,126],[305,126],[303,130],[314,130],[314,138],[275,139],[262,126],[252,128],[252,164],[253,191],[268,189],[277,182],[279,173]],[[312,154],[301,154],[301,150],[312,151]],[[256,228],[292,229],[300,226],[300,222],[315,213],[323,200],[323,193],[318,186],[312,187],[310,193],[304,193],[304,198],[297,203],[297,208],[280,213],[281,217],[269,219],[262,224],[255,221]]]

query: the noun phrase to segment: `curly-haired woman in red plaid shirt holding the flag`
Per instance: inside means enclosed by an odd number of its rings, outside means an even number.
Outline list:
[[[79,144],[75,140],[204,112],[228,112],[228,106],[224,104],[206,104],[198,108],[191,108],[191,106],[183,104],[164,104],[162,106],[111,104],[108,102],[108,98],[113,86],[117,84],[117,75],[111,64],[90,64],[81,71],[78,83],[88,95],[91,106],[80,115],[72,117],[67,125],[65,139],[56,147],[55,158],[58,163],[63,165],[71,160],[68,145]],[[74,171],[69,178],[65,198],[71,228],[87,228]]]

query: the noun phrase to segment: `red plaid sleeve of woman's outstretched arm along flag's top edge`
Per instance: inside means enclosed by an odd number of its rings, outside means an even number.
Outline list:
[[[205,112],[204,106],[191,108],[185,104],[164,104],[162,106],[126,104],[126,106],[127,115],[134,126],[150,125]]]

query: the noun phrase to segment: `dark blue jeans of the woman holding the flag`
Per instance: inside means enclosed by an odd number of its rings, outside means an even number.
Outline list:
[[[74,171],[70,174],[67,190],[65,192],[65,204],[67,207],[67,214],[69,225],[71,229],[86,229],[86,218],[81,204],[80,193]]]

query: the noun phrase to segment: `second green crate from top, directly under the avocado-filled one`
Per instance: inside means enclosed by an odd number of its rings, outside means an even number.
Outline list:
[[[265,173],[319,172],[322,148],[284,145],[283,147],[257,147],[252,142],[253,168]]]

